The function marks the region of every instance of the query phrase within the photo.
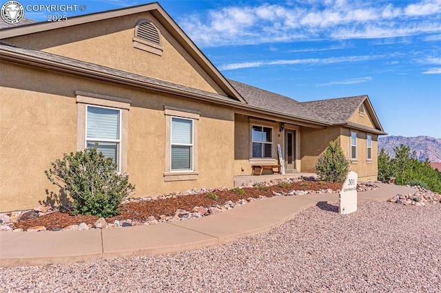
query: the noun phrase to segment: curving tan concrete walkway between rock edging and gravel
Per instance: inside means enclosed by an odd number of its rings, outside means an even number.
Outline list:
[[[378,184],[358,200],[386,200],[414,193],[404,186]],[[271,197],[223,213],[148,226],[59,232],[0,232],[0,266],[48,265],[194,250],[265,232],[318,202],[338,203],[338,194]]]

